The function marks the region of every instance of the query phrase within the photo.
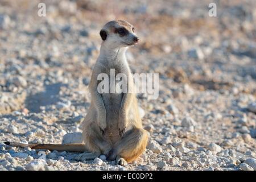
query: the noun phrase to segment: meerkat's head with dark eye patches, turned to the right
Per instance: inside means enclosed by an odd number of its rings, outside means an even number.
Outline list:
[[[104,44],[115,48],[133,46],[139,42],[134,27],[124,20],[106,23],[100,31],[100,36]]]

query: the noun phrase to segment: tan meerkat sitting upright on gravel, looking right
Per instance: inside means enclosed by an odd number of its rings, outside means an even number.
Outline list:
[[[127,76],[127,88],[135,89],[126,50],[139,42],[134,27],[124,20],[113,20],[100,31],[102,44],[100,55],[94,65],[89,84],[91,104],[82,122],[83,142],[81,144],[22,144],[6,142],[11,146],[30,147],[59,151],[84,152],[75,160],[91,160],[101,154],[107,160],[116,160],[125,166],[136,160],[145,150],[148,142],[147,131],[142,127],[135,92],[99,93],[98,75],[110,76],[110,69],[115,74]],[[109,85],[116,86],[116,85]]]

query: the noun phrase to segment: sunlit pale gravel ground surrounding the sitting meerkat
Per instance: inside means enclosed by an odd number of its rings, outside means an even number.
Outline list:
[[[256,170],[254,0],[216,1],[217,17],[210,1],[43,2],[46,17],[39,1],[0,1],[0,170]],[[159,73],[159,98],[138,94],[150,136],[141,158],[44,160],[3,144],[80,140],[99,32],[115,18],[141,38],[127,52],[131,70]]]

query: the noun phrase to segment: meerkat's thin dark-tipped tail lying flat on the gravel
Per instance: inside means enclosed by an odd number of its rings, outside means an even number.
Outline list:
[[[30,147],[31,149],[46,149],[46,150],[57,150],[57,151],[69,151],[69,152],[85,152],[85,144],[82,143],[70,143],[70,144],[24,144],[18,142],[4,142],[9,146],[14,147]]]

